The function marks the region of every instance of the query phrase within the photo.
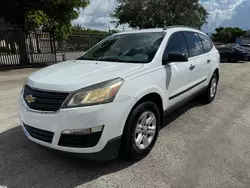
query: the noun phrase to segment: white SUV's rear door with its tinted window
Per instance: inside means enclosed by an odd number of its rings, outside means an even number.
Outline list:
[[[190,85],[192,91],[195,92],[204,87],[208,79],[208,70],[206,69],[207,60],[209,59],[205,55],[203,45],[200,37],[196,32],[184,32],[188,50],[189,50],[189,62],[190,62]]]

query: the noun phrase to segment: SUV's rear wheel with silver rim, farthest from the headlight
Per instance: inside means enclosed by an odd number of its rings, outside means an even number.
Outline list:
[[[212,89],[212,86],[213,86],[213,89]],[[202,97],[203,101],[206,104],[209,104],[214,100],[216,93],[217,93],[217,88],[218,88],[218,75],[214,73]]]

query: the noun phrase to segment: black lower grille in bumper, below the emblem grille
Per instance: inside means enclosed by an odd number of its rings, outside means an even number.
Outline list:
[[[37,129],[26,124],[24,124],[24,127],[28,131],[31,137],[48,143],[52,142],[54,136],[53,132]]]

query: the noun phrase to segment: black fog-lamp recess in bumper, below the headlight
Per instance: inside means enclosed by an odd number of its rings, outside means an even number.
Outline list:
[[[101,135],[102,132],[96,132],[89,135],[62,134],[58,145],[74,148],[94,147],[98,143]]]

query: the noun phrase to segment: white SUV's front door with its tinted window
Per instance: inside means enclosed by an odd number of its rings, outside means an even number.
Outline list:
[[[183,32],[172,34],[168,40],[164,56],[171,52],[177,52],[189,57],[188,47]],[[169,95],[169,106],[172,106],[187,96],[187,89],[190,87],[191,71],[189,62],[169,62],[164,65],[167,79],[167,90]]]

